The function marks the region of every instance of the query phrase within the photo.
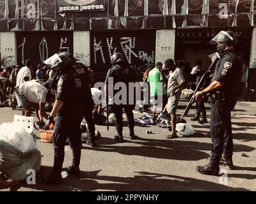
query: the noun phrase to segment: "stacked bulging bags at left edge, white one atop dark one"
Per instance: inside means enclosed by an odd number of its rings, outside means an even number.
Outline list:
[[[15,182],[26,180],[28,172],[40,171],[41,153],[36,138],[21,122],[0,125],[0,171]]]

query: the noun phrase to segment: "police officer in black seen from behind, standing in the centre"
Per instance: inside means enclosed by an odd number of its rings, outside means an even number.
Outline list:
[[[125,110],[127,120],[128,120],[128,127],[130,130],[130,139],[136,140],[138,137],[134,135],[134,116],[132,110],[135,108],[135,103],[133,105],[129,105],[129,82],[138,82],[137,76],[135,71],[129,66],[129,64],[125,61],[124,55],[120,52],[116,52],[111,56],[111,64],[113,66],[108,70],[106,80],[105,80],[105,92],[106,96],[108,96],[108,87],[109,87],[109,78],[113,78],[113,86],[115,86],[118,82],[124,82],[127,87],[127,101],[125,104],[121,103],[120,105],[116,105],[115,100],[113,101],[113,105],[111,105],[111,110],[113,111],[116,119],[116,131],[117,136],[115,136],[115,140],[117,142],[123,142],[123,108]],[[133,90],[132,90],[133,91]],[[118,92],[115,90],[114,96]],[[132,96],[134,100],[134,96]]]

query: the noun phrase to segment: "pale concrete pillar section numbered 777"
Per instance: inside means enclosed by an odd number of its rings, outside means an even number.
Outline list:
[[[175,54],[175,30],[156,31],[156,62],[162,62],[168,58],[174,59]]]

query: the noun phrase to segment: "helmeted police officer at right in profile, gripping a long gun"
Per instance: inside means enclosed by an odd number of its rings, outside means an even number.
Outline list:
[[[236,34],[232,31],[221,31],[211,43],[217,44],[220,59],[212,77],[212,83],[196,93],[200,99],[204,94],[212,93],[210,135],[212,139],[210,163],[197,166],[199,173],[218,175],[219,164],[232,169],[233,140],[230,112],[236,105],[236,94],[242,76],[242,60],[235,52]],[[223,157],[221,157],[223,154]]]

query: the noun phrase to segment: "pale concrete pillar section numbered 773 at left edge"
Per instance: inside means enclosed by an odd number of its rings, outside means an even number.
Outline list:
[[[17,64],[16,34],[14,32],[0,33],[2,66]]]

